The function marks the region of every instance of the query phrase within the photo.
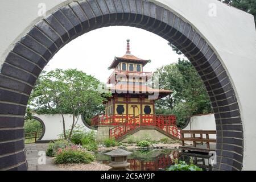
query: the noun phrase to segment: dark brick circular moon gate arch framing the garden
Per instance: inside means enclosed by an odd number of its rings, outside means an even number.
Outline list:
[[[144,0],[72,2],[40,20],[16,43],[0,75],[0,169],[27,169],[24,114],[28,97],[42,69],[71,40],[107,26],[143,28],[173,43],[188,57],[204,81],[216,118],[217,164],[213,169],[241,170],[243,133],[240,110],[217,52],[187,20]]]

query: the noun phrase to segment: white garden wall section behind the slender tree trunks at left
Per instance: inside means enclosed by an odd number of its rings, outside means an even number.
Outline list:
[[[55,140],[59,139],[59,135],[63,133],[63,122],[61,114],[34,114],[34,116],[42,119],[44,125],[46,126],[46,132],[41,140]],[[72,114],[64,114],[64,121],[65,121],[65,129],[71,129],[73,116]],[[79,118],[75,118],[75,122],[77,121],[76,126],[84,126],[82,127],[85,131],[90,131],[88,127],[84,125],[81,119],[81,115]]]

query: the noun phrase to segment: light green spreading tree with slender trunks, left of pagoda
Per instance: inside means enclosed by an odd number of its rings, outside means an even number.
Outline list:
[[[42,72],[30,96],[30,107],[38,114],[61,114],[64,138],[70,138],[76,125],[76,116],[92,118],[102,110],[105,95],[97,91],[100,82],[76,69],[56,69]],[[65,133],[64,114],[72,114],[73,122],[68,136]]]

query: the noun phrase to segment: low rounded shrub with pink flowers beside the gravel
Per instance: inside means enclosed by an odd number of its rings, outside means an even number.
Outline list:
[[[90,154],[86,150],[77,146],[71,146],[59,150],[57,152],[55,163],[56,164],[67,164],[67,163],[91,163],[95,160],[94,155]]]

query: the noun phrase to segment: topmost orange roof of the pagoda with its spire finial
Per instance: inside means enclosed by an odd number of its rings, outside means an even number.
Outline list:
[[[109,69],[113,69],[113,68],[117,67],[117,65],[122,61],[130,62],[130,63],[139,63],[139,64],[142,64],[143,66],[146,65],[148,62],[150,62],[150,60],[140,59],[140,58],[131,54],[131,52],[130,52],[130,40],[129,39],[127,39],[126,54],[122,57],[115,57],[112,64],[110,65]]]

